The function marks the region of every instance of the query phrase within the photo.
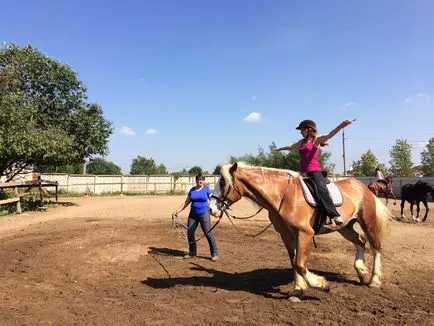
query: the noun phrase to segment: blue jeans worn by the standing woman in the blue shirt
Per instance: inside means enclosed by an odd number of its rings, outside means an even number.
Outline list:
[[[208,240],[211,256],[217,256],[217,244],[215,242],[214,236],[210,232],[211,219],[209,216],[209,212],[205,212],[203,214],[193,214],[190,212],[190,214],[188,215],[187,236],[190,256],[196,256],[197,254],[196,239],[194,237],[194,233],[196,232],[198,224],[200,224],[200,227],[202,228],[202,231],[205,234],[206,239]]]

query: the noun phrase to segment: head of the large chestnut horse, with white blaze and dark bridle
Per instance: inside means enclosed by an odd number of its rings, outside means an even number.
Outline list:
[[[214,187],[209,202],[209,209],[212,215],[221,216],[225,209],[229,208],[233,203],[243,197],[243,186],[237,182],[235,177],[235,172],[238,167],[238,163],[232,166],[225,164],[221,167],[221,177]]]

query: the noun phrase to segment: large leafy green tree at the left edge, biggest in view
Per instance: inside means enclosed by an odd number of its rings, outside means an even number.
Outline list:
[[[66,64],[28,45],[0,47],[0,176],[105,155],[113,129]]]

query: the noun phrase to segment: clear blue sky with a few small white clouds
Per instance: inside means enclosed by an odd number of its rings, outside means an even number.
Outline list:
[[[7,1],[0,41],[70,65],[113,122],[107,159],[129,172],[213,171],[229,156],[343,119],[346,162],[388,165],[396,139],[420,162],[434,137],[431,0]],[[342,135],[327,151],[343,171]]]

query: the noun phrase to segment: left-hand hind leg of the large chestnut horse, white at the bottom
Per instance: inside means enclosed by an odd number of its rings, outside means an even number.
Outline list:
[[[365,244],[366,238],[353,229],[354,223],[348,224],[345,228],[339,230],[339,233],[348,241],[354,243],[356,247],[356,256],[354,259],[354,269],[357,272],[360,283],[368,285],[371,281],[369,270],[365,265]]]

